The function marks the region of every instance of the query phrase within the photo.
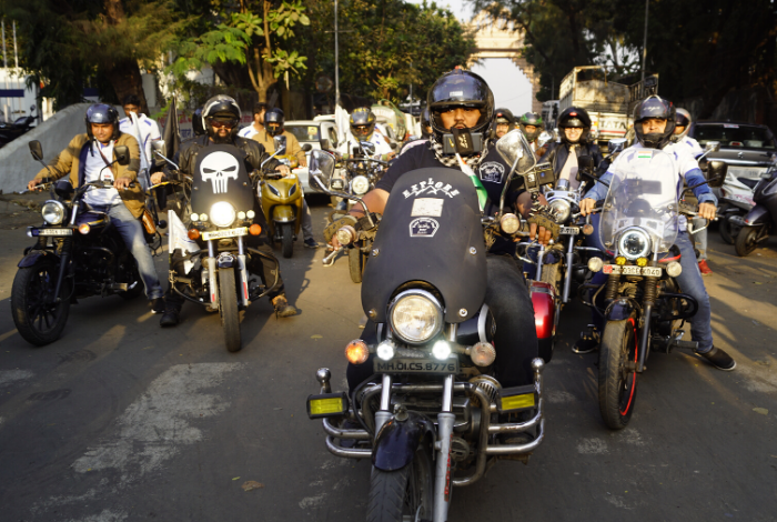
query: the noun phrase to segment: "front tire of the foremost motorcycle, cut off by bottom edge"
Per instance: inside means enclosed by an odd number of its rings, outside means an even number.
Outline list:
[[[413,462],[401,470],[372,469],[367,522],[433,520],[434,465],[430,452],[428,445],[423,444]]]

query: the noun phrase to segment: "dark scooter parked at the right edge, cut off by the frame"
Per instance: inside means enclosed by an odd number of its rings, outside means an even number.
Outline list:
[[[771,229],[777,225],[777,168],[773,167],[761,174],[753,201],[755,207],[747,215],[733,215],[728,219],[733,228],[739,228],[734,248],[740,258],[751,254],[758,243],[766,241]]]

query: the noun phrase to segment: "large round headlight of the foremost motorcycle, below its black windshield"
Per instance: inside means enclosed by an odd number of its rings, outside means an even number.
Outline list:
[[[443,308],[425,290],[405,290],[389,305],[391,328],[408,344],[423,344],[443,328]]]

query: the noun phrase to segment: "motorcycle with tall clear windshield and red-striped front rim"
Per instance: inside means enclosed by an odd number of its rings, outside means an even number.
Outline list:
[[[609,191],[597,210],[603,210],[602,243],[613,261],[592,258],[588,269],[608,274],[596,289],[604,291],[606,303],[598,402],[605,424],[620,430],[634,412],[637,375],[646,370],[650,351],[698,348],[697,342],[682,340],[683,322],[696,313],[698,303],[678,288],[675,278],[683,269],[674,245],[679,214],[697,212],[678,201],[676,168],[662,150],[627,149],[610,170]],[[699,184],[720,187],[725,172],[725,163],[710,161],[708,181]],[[689,233],[700,230],[688,227]],[[594,305],[595,299],[586,304]]]

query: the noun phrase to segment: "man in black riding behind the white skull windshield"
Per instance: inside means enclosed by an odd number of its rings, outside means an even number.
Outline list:
[[[240,123],[240,107],[232,98],[219,94],[210,100],[208,100],[202,108],[202,119],[203,127],[205,128],[206,134],[198,137],[193,140],[189,140],[181,144],[181,149],[175,153],[173,162],[180,165],[180,172],[183,174],[193,175],[194,167],[196,164],[196,158],[200,151],[211,144],[231,144],[240,149],[246,154],[245,157],[245,168],[249,172],[254,169],[259,169],[262,161],[268,158],[264,148],[253,140],[248,140],[245,138],[238,137],[238,124]],[[279,165],[278,162],[271,160],[269,163],[270,168],[275,167],[275,170],[289,174],[289,167]],[[158,172],[151,177],[151,181],[155,184],[161,182],[167,178],[167,174]],[[265,230],[268,230],[266,222],[264,221],[264,214],[262,213],[262,208],[259,201],[254,198],[254,223],[259,223],[262,227],[262,233],[260,235],[249,235],[246,239],[248,247],[259,250],[260,252],[266,254],[270,259],[274,260],[272,248],[268,244],[268,237]],[[175,259],[171,261],[171,270],[179,272],[182,263],[178,262]],[[283,280],[280,274],[280,264],[278,261],[263,262],[262,258],[259,255],[252,255],[249,262],[249,271],[259,274],[262,278],[264,284],[270,284],[271,281],[275,280],[276,267],[278,273],[278,288],[273,290],[269,297],[275,309],[278,317],[286,318],[290,315],[296,315],[296,309],[289,303],[286,300],[285,292],[283,290]],[[183,298],[178,295],[172,285],[168,285],[168,291],[164,294],[165,309],[162,319],[160,320],[160,325],[162,327],[174,327],[179,323],[181,307],[183,305]]]

